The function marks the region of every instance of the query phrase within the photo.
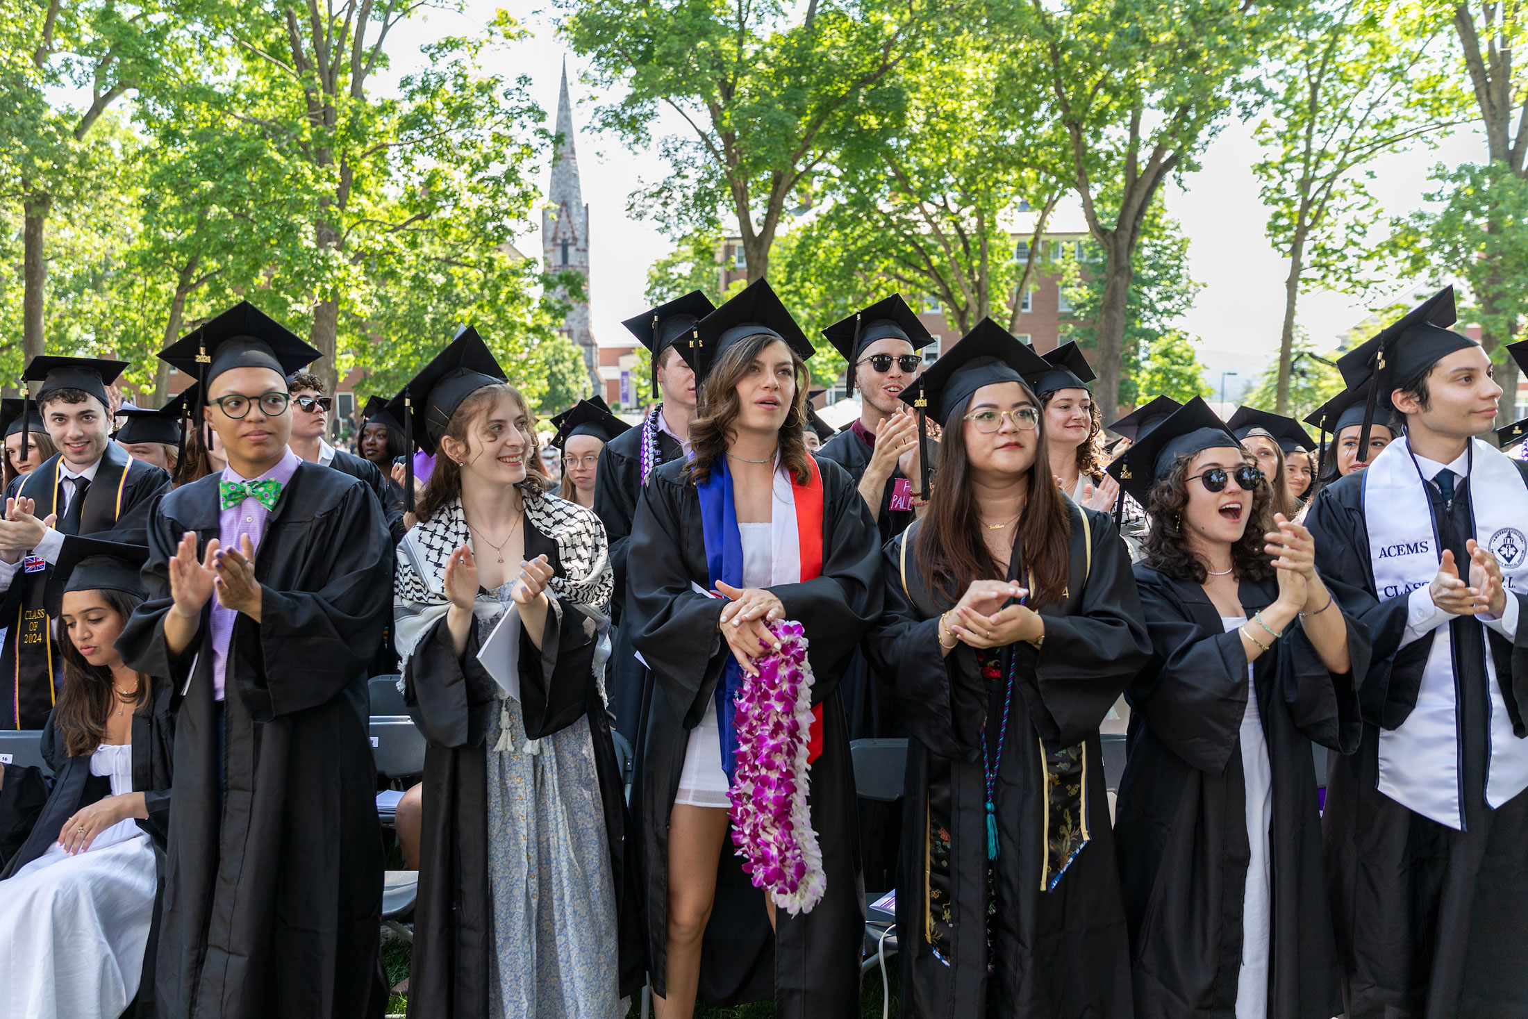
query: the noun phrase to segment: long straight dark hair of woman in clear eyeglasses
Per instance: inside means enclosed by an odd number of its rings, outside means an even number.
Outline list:
[[[1022,385],[1022,383],[1021,383]],[[1034,394],[1024,387],[1031,400]],[[960,599],[972,581],[1001,579],[998,564],[983,539],[986,529],[976,512],[976,495],[969,481],[970,461],[966,458],[966,429],[961,420],[970,400],[963,400],[944,419],[940,442],[938,483],[929,497],[929,513],[918,527],[914,544],[918,570],[929,588],[944,590],[950,600]],[[1034,400],[1039,409],[1039,400]],[[1071,573],[1071,513],[1067,498],[1051,480],[1045,460],[1045,414],[1038,414],[1034,428],[1034,464],[1028,471],[1024,512],[1015,530],[1013,555],[1021,558],[1030,581],[1030,607],[1060,600]]]

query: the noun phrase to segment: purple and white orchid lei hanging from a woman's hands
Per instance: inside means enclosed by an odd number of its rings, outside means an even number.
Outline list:
[[[732,843],[755,888],[792,917],[811,912],[827,878],[817,833],[807,807],[807,750],[811,730],[811,665],[801,623],[770,623],[779,651],[744,675],[733,724],[738,732],[732,801]]]

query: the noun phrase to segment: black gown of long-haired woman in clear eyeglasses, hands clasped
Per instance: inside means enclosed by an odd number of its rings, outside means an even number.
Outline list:
[[[1146,662],[1149,645],[1129,555],[1114,521],[1070,501],[1068,510],[1068,596],[1063,603],[1041,607],[1045,642],[1039,649],[1021,643],[1002,655],[1002,668],[1008,655],[1018,660],[993,799],[998,859],[992,898],[981,735],[986,727],[995,752],[1005,674],[984,680],[975,651],[964,643],[949,657],[940,655],[938,616],[958,597],[931,593],[917,568],[915,535],[923,524],[885,550],[886,613],[865,646],[871,668],[895,678],[911,735],[897,885],[906,1019],[1131,1016],[1129,943],[1099,724]],[[1086,513],[1086,532],[1080,513]],[[909,538],[905,591],[902,545]],[[1013,556],[1013,579],[1018,559]],[[1048,856],[1045,822],[1057,814],[1056,794],[1068,785],[1050,767],[1042,768],[1042,753],[1063,749],[1082,762],[1080,781],[1070,782],[1086,811],[1091,840],[1054,891],[1041,891]],[[947,889],[937,891],[931,882],[931,830],[941,834],[941,852],[949,854]],[[943,930],[931,921],[931,901],[949,911]]]

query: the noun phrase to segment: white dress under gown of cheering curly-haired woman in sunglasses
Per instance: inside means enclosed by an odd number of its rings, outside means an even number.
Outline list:
[[[1242,626],[1245,616],[1221,616],[1225,632]],[[1242,773],[1247,784],[1247,888],[1242,892],[1242,967],[1236,981],[1236,1019],[1268,1019],[1268,940],[1273,926],[1273,860],[1268,827],[1273,823],[1273,765],[1258,715],[1251,665],[1247,666],[1247,710],[1242,713]]]

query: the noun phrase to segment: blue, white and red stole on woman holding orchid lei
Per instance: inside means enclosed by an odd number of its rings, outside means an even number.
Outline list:
[[[798,484],[784,466],[775,469],[775,506],[770,513],[770,587],[801,584],[822,576],[822,475],[817,463],[807,457],[810,477]],[[732,587],[743,584],[743,532],[732,500],[732,475],[726,458],[712,464],[704,481],[695,484],[700,495],[700,524],[706,541],[706,573],[712,597],[717,582]],[[727,668],[717,683],[717,727],[721,732],[721,768],[732,782],[736,770],[738,733],[732,720],[738,691],[743,689],[743,668],[727,651]],[[822,704],[811,710],[811,741],[808,764],[822,753]]]

